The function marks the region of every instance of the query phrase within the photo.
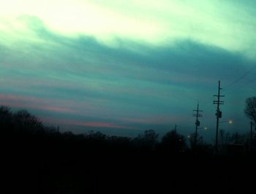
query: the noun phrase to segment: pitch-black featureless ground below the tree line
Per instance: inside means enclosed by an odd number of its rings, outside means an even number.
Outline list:
[[[250,155],[2,142],[1,193],[255,193]]]

